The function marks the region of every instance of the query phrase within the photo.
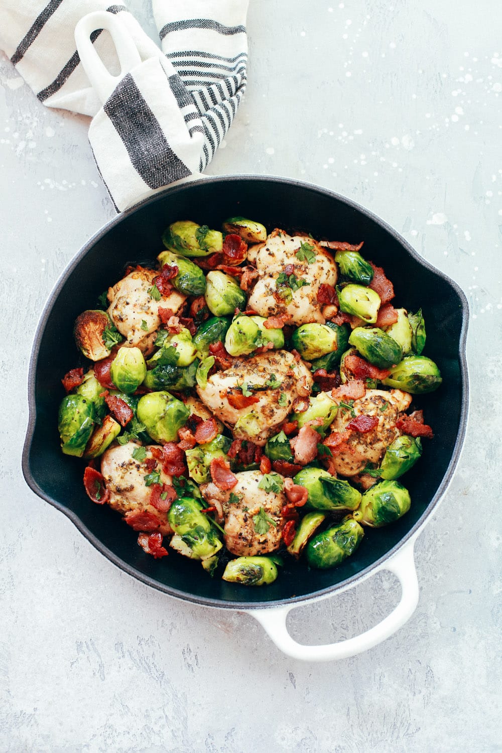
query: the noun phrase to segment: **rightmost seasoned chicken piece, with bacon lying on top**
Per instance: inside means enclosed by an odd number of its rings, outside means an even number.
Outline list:
[[[389,444],[399,436],[400,431],[396,428],[398,415],[409,407],[411,401],[412,396],[400,389],[388,392],[368,389],[364,398],[354,400],[351,410],[340,407],[331,424],[331,431],[345,431],[357,416],[376,416],[379,422],[375,428],[365,433],[351,431],[345,441],[351,449],[348,452],[333,453],[333,457],[329,459],[330,471],[336,471],[341,476],[355,476],[367,463],[378,465]]]

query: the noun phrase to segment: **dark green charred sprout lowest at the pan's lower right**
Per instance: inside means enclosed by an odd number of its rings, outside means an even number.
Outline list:
[[[310,567],[327,569],[336,567],[354,553],[364,536],[359,523],[349,517],[338,526],[318,533],[306,547],[306,558]]]

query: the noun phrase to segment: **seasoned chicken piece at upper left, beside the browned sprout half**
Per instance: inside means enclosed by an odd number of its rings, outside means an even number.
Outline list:
[[[163,295],[160,300],[152,298],[148,291],[158,275],[156,270],[136,267],[117,285],[108,288],[108,316],[120,334],[126,337],[123,345],[140,348],[145,354],[153,349],[155,331],[160,327],[159,307],[176,313],[186,299],[176,290]]]

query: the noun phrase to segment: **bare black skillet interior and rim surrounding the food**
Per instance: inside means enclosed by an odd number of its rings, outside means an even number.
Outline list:
[[[274,584],[258,589],[212,580],[199,562],[172,552],[159,560],[143,553],[137,534],[110,508],[94,505],[87,497],[82,485],[85,462],[62,455],[56,428],[64,394],[59,380],[81,364],[72,337],[76,316],[95,306],[99,294],[120,279],[127,262],[154,259],[162,250],[160,235],[169,223],[193,219],[218,228],[232,215],[255,218],[268,230],[301,229],[317,238],[364,240],[364,256],[384,267],[394,282],[394,305],[412,311],[421,306],[427,325],[424,355],[437,361],[443,374],[437,392],[415,400],[434,427],[434,441],[424,441],[421,461],[406,475],[412,495],[409,513],[388,528],[365,529],[357,553],[337,569],[309,570],[303,563],[288,561]],[[23,472],[29,486],[67,514],[105,556],[166,593],[233,608],[318,595],[347,584],[387,556],[431,514],[446,488],[466,422],[467,317],[467,301],[455,283],[424,264],[403,239],[369,212],[329,191],[280,178],[248,176],[169,189],[115,219],[91,239],[47,304],[32,355]]]

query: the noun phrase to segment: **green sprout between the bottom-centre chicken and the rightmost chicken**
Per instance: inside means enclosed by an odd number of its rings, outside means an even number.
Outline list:
[[[302,468],[294,477],[294,483],[305,486],[309,492],[308,510],[355,510],[361,503],[361,492],[324,468]]]

